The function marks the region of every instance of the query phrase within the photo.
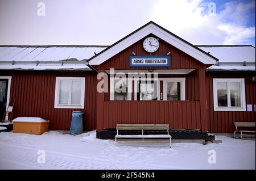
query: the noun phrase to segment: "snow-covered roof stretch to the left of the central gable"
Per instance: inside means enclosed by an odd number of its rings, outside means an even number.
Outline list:
[[[86,60],[108,46],[0,46],[0,69],[89,69]]]

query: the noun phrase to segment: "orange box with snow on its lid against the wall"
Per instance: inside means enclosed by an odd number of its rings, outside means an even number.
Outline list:
[[[47,132],[49,121],[40,117],[17,117],[13,120],[14,133],[27,133],[40,135]]]

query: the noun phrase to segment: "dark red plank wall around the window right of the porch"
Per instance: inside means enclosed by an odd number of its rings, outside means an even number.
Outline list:
[[[213,78],[245,78],[246,104],[255,104],[255,82],[251,77],[254,73],[207,73],[207,100],[208,100],[208,128],[212,133],[234,132],[234,122],[255,121],[254,107],[252,112],[247,111],[214,111],[213,108]]]

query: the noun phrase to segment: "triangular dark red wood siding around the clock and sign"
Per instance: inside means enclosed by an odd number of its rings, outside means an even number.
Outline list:
[[[154,35],[150,35],[154,36]],[[148,36],[147,36],[148,37]],[[105,61],[101,65],[97,65],[97,69],[145,69],[145,68],[130,68],[129,67],[129,57],[131,56],[131,52],[135,52],[136,56],[148,56],[143,47],[143,39],[137,41],[137,43],[131,45],[130,47],[122,50],[122,52],[116,54],[109,60]],[[166,55],[168,52],[171,52],[171,67],[170,68],[159,68],[159,67],[151,67],[146,69],[200,69],[205,68],[205,65],[200,61],[197,61],[195,58],[189,56],[188,54],[182,52],[181,50],[175,48],[174,46],[168,44],[166,41],[159,39],[159,49],[152,53],[152,56],[162,56]]]

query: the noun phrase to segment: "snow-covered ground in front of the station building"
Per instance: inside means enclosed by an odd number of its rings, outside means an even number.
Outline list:
[[[221,144],[118,144],[96,132],[71,136],[0,133],[0,169],[255,169],[255,140],[216,136]],[[42,152],[46,163],[38,163]],[[216,163],[208,158],[216,153]],[[210,153],[211,155],[209,155]],[[212,158],[212,157],[211,157]],[[42,161],[42,159],[40,159]],[[214,159],[210,159],[214,160]]]

